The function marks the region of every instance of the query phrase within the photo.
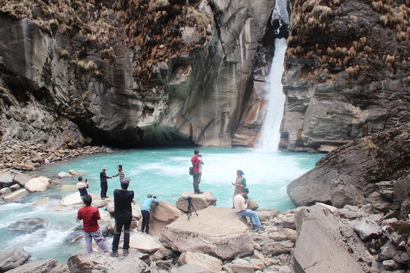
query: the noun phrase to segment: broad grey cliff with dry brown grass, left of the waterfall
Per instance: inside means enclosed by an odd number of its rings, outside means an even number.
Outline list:
[[[231,145],[274,1],[0,0],[0,137]]]

